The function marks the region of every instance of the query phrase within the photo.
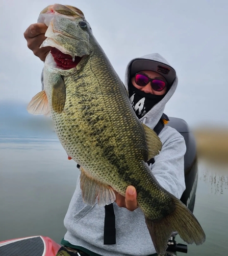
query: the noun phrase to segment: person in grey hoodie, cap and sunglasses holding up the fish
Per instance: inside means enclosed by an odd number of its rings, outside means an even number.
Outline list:
[[[28,47],[42,61],[50,50],[49,47],[39,48],[45,39],[46,29],[44,24],[32,24],[24,32]],[[177,85],[175,70],[157,53],[135,58],[126,67],[125,87],[132,107],[139,120],[151,129],[160,121],[167,122],[163,111]],[[154,158],[154,163],[148,163],[149,167],[160,185],[180,199],[185,190],[184,138],[167,125],[159,137],[162,150]],[[126,188],[125,197],[116,191],[115,194],[115,242],[107,244],[104,243],[105,209],[97,204],[92,207],[84,204],[78,179],[64,219],[67,232],[61,241],[62,253],[65,250],[70,255],[81,256],[156,255],[143,212],[137,205],[136,189],[133,186]],[[62,254],[59,252],[57,255]]]

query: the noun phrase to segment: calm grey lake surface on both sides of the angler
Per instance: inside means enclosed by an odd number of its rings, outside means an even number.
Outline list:
[[[67,160],[55,136],[43,140],[0,137],[0,241],[42,234],[60,243],[79,175],[76,165]],[[227,166],[199,160],[194,215],[205,230],[206,242],[189,245],[189,256],[228,254],[227,176]]]

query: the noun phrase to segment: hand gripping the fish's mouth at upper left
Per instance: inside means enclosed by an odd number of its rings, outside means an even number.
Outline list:
[[[24,38],[27,40],[27,45],[33,53],[38,56],[42,61],[45,60],[50,47],[40,48],[42,42],[46,39],[44,36],[47,26],[43,23],[35,23],[29,26],[24,32]]]

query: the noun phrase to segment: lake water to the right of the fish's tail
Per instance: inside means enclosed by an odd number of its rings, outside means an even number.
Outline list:
[[[198,169],[194,215],[206,233],[206,242],[200,246],[189,245],[187,255],[227,255],[227,166],[199,159]]]

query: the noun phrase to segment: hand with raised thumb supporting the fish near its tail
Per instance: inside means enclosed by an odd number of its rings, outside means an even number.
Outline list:
[[[119,193],[117,193],[114,190],[114,193],[116,195],[116,204],[119,207],[125,207],[130,211],[133,211],[135,209],[138,208],[138,204],[137,204],[137,193],[136,193],[136,189],[133,186],[128,186],[126,188],[126,193],[125,193],[125,197],[121,196]]]

